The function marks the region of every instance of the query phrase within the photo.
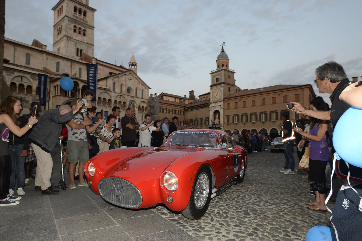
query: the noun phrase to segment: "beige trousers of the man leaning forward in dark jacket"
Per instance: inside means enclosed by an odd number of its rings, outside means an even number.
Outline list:
[[[46,190],[51,186],[50,177],[53,169],[53,160],[50,153],[43,151],[39,146],[31,143],[34,154],[37,157],[37,175],[35,176],[35,186],[41,186]]]

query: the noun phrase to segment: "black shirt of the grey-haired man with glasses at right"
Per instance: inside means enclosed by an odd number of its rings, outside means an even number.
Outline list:
[[[336,89],[333,90],[331,96],[329,98],[331,99],[332,106],[331,106],[331,122],[333,124],[333,128],[336,127],[337,121],[340,119],[340,117],[343,115],[343,113],[351,107],[349,104],[343,102],[339,99],[339,96],[342,92],[342,90],[345,89],[348,85],[349,80],[348,78],[345,78],[342,80],[336,87]]]

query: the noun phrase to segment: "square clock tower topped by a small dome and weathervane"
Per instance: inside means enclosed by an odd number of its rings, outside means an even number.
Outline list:
[[[236,92],[234,70],[229,69],[229,57],[224,50],[216,58],[216,69],[212,70],[210,85],[210,125],[216,124],[217,129],[224,130],[224,101],[223,99]]]

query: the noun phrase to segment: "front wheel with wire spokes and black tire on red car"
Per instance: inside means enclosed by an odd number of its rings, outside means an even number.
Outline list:
[[[194,185],[192,186],[191,190],[189,205],[187,205],[187,207],[181,211],[182,215],[188,219],[200,219],[209,208],[211,191],[211,171],[207,164],[203,164],[196,173]]]

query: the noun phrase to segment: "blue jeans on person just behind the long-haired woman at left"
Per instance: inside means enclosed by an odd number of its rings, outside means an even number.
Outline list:
[[[21,156],[24,145],[9,145],[11,162],[13,165],[13,172],[10,176],[9,189],[15,190],[15,172],[16,172],[16,188],[24,188],[25,185],[25,156]]]

